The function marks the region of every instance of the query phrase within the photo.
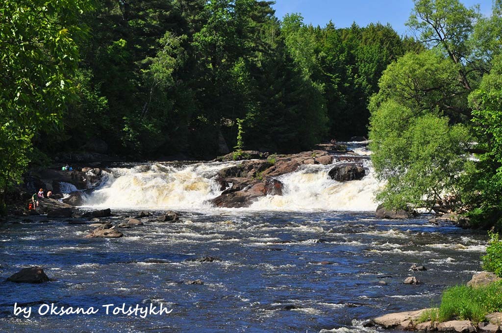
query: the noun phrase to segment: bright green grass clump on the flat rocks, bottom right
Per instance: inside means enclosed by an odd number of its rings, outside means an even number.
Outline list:
[[[443,292],[438,308],[422,313],[420,322],[448,320],[470,320],[481,322],[485,315],[502,311],[502,281],[484,287],[472,288],[465,285],[450,287]]]

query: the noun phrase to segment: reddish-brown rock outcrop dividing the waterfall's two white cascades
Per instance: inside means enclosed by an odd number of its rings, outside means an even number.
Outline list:
[[[260,155],[255,151],[241,152],[240,155],[254,156],[262,159],[242,160],[237,165],[224,168],[218,172],[220,196],[210,200],[216,207],[241,208],[249,207],[258,198],[267,195],[283,194],[283,184],[277,177],[295,172],[302,165],[333,163],[336,155],[333,151],[343,151],[339,145],[329,145],[325,150],[305,151],[291,155]],[[340,149],[340,150],[338,150]],[[346,149],[343,146],[343,149]],[[227,160],[231,154],[220,160]],[[346,156],[345,156],[346,157]],[[267,159],[263,159],[267,158]],[[365,175],[362,165],[356,161],[344,163],[341,167],[333,167],[330,176],[336,181],[358,180]]]

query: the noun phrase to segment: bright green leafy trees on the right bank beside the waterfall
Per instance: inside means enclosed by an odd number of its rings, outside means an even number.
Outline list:
[[[387,207],[448,204],[484,227],[502,217],[501,9],[415,0],[408,25],[426,50],[388,66],[369,104]]]

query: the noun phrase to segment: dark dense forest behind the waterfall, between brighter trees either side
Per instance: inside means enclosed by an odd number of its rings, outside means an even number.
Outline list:
[[[238,144],[237,119],[246,149],[291,152],[366,135],[382,71],[417,44],[380,24],[279,21],[271,5],[98,1],[83,17],[91,35],[80,45],[80,98],[64,116],[63,142],[37,146],[79,150],[99,138],[134,158],[210,158]]]

